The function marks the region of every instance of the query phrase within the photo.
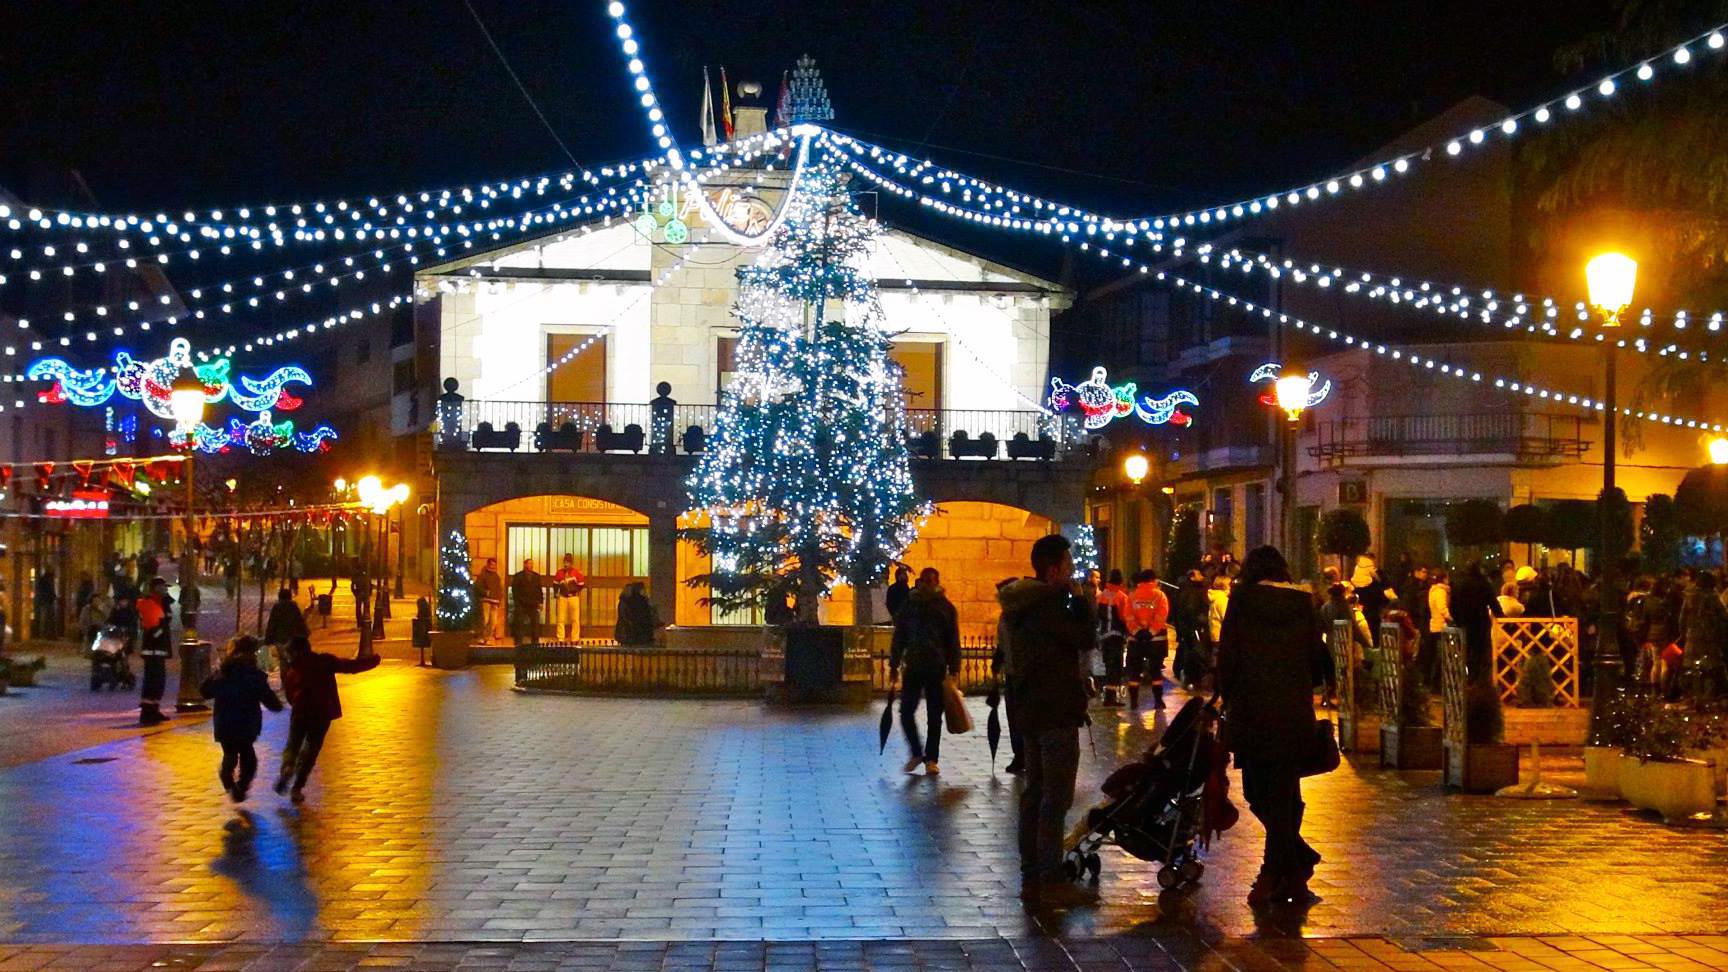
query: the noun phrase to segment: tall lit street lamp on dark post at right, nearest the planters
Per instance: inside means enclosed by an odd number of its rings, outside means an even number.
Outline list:
[[[1604,253],[1585,265],[1585,282],[1590,287],[1590,306],[1602,315],[1604,329],[1619,329],[1619,317],[1631,306],[1633,285],[1638,280],[1638,263],[1623,253]],[[1602,382],[1602,496],[1597,500],[1597,515],[1602,526],[1602,569],[1600,609],[1597,619],[1597,675],[1595,690],[1590,694],[1590,744],[1607,745],[1609,737],[1609,692],[1619,685],[1619,619],[1623,597],[1619,593],[1619,538],[1616,536],[1614,514],[1619,505],[1610,503],[1614,486],[1614,432],[1619,425],[1619,396],[1614,387],[1614,341],[1602,342],[1604,382]]]

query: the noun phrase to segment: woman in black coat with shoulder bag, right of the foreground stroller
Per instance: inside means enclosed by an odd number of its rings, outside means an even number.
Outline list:
[[[1313,687],[1325,640],[1306,586],[1291,583],[1274,547],[1242,560],[1218,638],[1225,739],[1242,770],[1242,796],[1267,828],[1265,860],[1248,903],[1313,901],[1320,854],[1301,839],[1301,766],[1313,745]]]

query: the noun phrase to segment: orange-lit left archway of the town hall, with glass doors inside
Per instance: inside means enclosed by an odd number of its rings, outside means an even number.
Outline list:
[[[619,595],[632,581],[648,583],[648,517],[593,496],[543,495],[489,503],[463,517],[472,569],[498,559],[508,578],[532,559],[551,574],[565,553],[588,574],[582,592],[582,636],[608,638],[617,623]]]

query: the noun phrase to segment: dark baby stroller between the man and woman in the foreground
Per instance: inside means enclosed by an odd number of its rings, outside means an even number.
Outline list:
[[[1142,861],[1158,861],[1158,886],[1199,882],[1199,851],[1211,834],[1236,825],[1218,742],[1218,697],[1189,699],[1165,735],[1140,758],[1104,780],[1104,801],[1082,815],[1068,835],[1063,870],[1097,880],[1099,847],[1115,844]]]

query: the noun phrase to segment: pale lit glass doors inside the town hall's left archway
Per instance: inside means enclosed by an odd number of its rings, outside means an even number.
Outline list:
[[[505,533],[505,562],[513,571],[520,571],[522,560],[532,557],[534,569],[546,574],[548,581],[558,572],[565,553],[575,557],[575,566],[588,574],[588,590],[582,592],[584,638],[610,638],[612,626],[619,621],[619,595],[632,581],[648,583],[646,526],[513,522]]]

